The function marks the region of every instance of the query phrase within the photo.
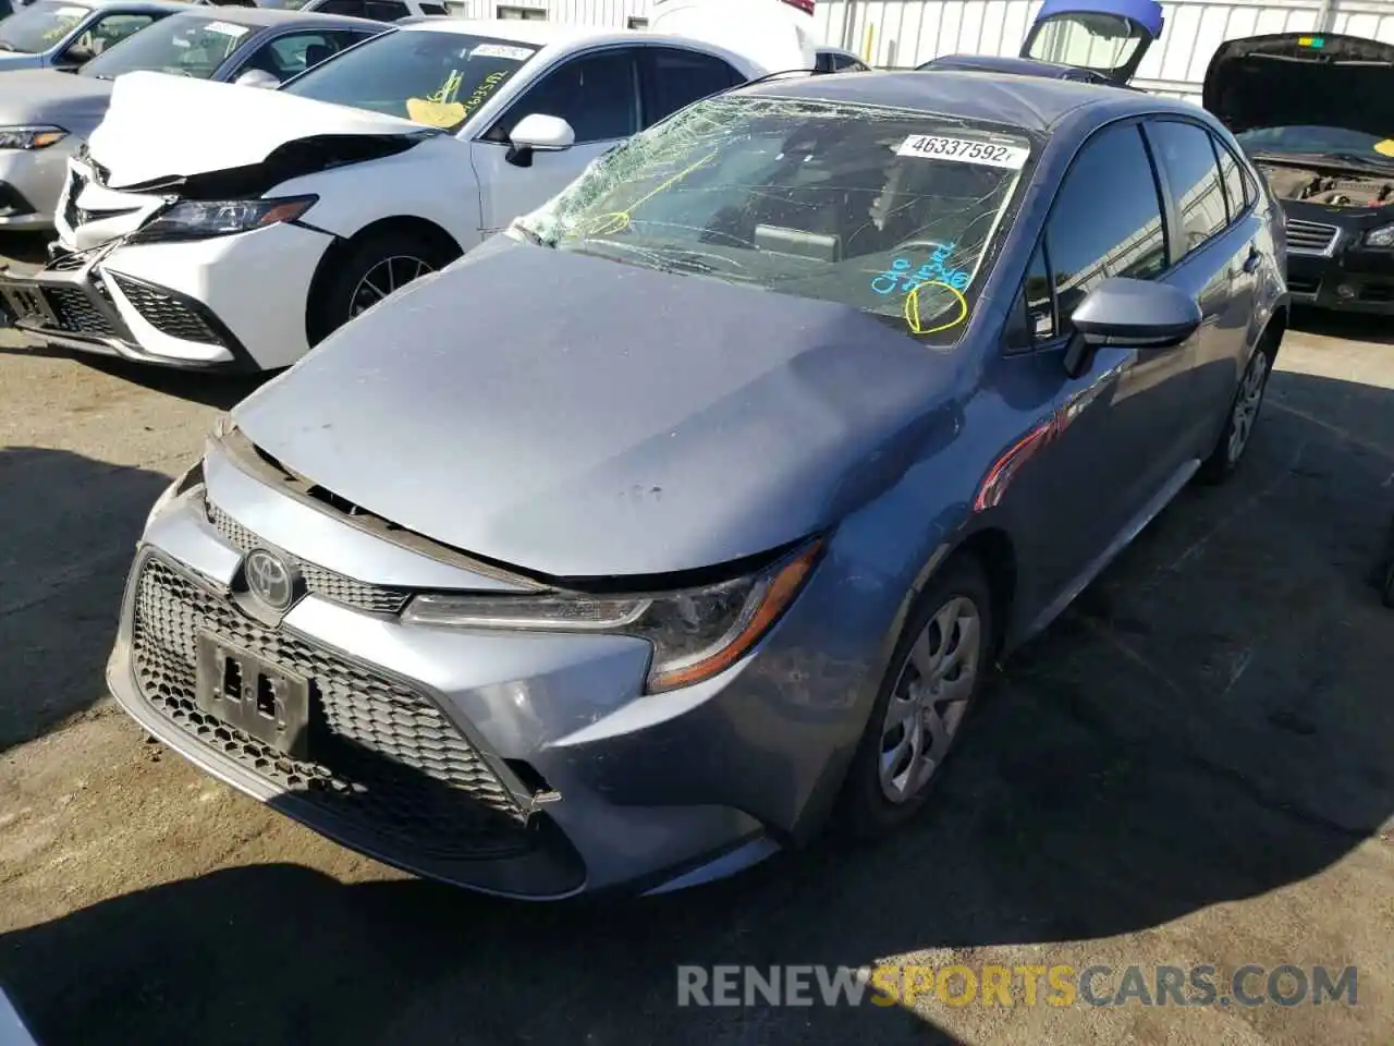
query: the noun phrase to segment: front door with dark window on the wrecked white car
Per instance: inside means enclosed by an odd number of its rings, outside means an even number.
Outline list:
[[[480,179],[482,234],[507,226],[569,185],[585,165],[638,131],[641,47],[605,47],[563,59],[526,86],[480,138],[470,159]],[[526,166],[509,159],[509,134],[534,113],[558,116],[576,131],[559,152],[534,152]]]

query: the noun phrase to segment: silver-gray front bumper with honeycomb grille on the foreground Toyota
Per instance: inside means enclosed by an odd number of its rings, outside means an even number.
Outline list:
[[[788,692],[807,655],[792,649],[807,640],[799,604],[722,676],[645,697],[647,643],[406,626],[408,582],[481,579],[427,579],[439,563],[216,456],[205,467],[206,487],[146,533],[107,682],[145,729],[243,792],[397,867],[527,900],[729,874],[797,841],[831,805],[866,704],[838,672]],[[315,563],[296,558],[308,593],[276,628],[238,609],[252,544],[315,549]],[[831,591],[806,593],[814,616]],[[283,759],[198,711],[191,644],[204,630],[315,681],[322,763]]]

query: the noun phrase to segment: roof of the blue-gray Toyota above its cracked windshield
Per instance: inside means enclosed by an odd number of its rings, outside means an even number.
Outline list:
[[[1098,110],[1100,120],[1133,113],[1195,116],[1203,112],[1190,102],[1126,88],[952,68],[871,71],[856,77],[779,78],[733,88],[733,92],[919,109],[926,113],[1008,124],[1030,131],[1048,131],[1082,109]]]

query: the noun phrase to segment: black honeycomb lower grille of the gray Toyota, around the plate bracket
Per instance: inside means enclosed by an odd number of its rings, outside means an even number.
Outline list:
[[[290,759],[198,707],[201,632],[311,681],[312,761]],[[153,708],[311,812],[413,855],[502,856],[531,845],[527,813],[434,702],[284,629],[263,628],[158,558],[145,561],[137,580],[131,644],[141,696]]]

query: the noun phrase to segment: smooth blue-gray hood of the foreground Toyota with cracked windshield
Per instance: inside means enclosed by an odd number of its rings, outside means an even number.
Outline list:
[[[499,236],[233,411],[280,466],[549,577],[767,552],[894,483],[953,356],[849,305]]]

